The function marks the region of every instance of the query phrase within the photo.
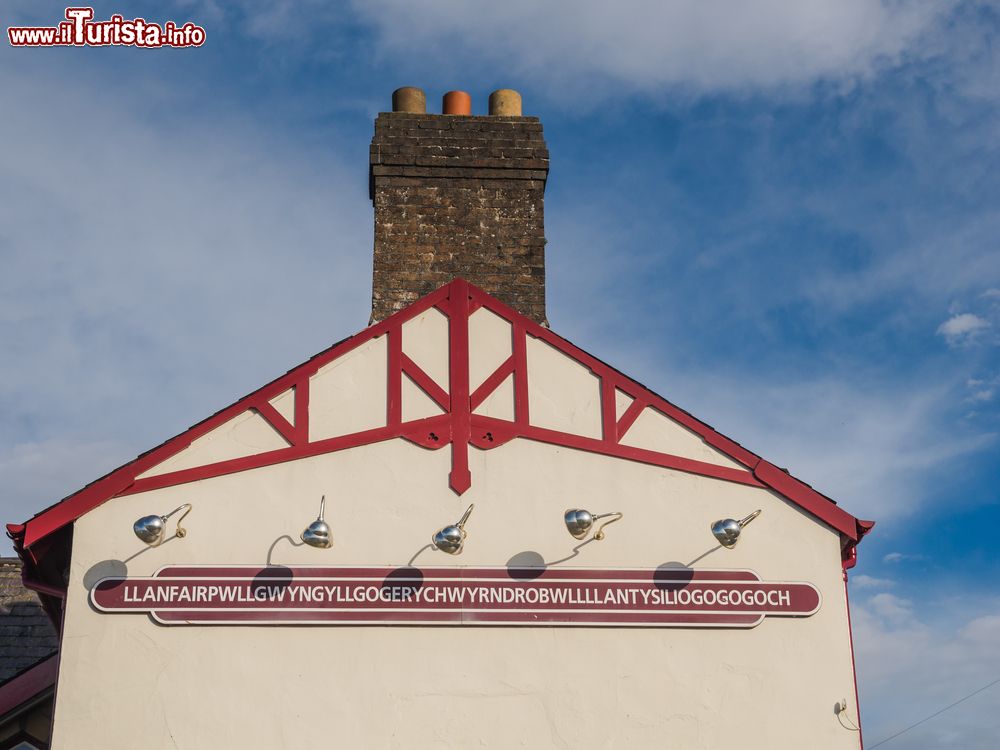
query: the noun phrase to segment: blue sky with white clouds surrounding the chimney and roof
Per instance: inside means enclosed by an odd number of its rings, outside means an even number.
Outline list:
[[[3,25],[64,5],[8,2]],[[367,323],[391,91],[520,90],[549,318],[858,516],[868,744],[1000,677],[1000,12],[814,0],[120,3],[0,49],[20,521]],[[885,744],[993,748],[1000,686]]]

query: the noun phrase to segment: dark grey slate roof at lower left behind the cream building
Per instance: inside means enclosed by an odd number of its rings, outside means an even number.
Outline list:
[[[0,683],[59,648],[59,637],[34,591],[21,582],[21,561],[0,558]]]

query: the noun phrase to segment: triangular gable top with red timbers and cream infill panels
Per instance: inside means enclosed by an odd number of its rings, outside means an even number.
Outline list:
[[[420,320],[429,322],[421,325]],[[486,330],[484,325],[493,332],[487,354],[477,347],[476,339]],[[414,342],[408,347],[406,332],[415,327],[433,330],[431,338],[437,343],[421,340],[419,346]],[[470,336],[470,329],[475,335]],[[505,332],[509,332],[509,346]],[[532,389],[541,388],[546,377],[545,367],[529,367],[529,360],[539,356],[553,359],[555,365],[549,370],[557,372],[556,377],[559,368],[573,373],[576,392],[582,394],[575,402],[569,394],[543,407],[537,394],[533,397]],[[352,358],[356,364],[350,366],[357,372],[341,364]],[[336,396],[336,389],[324,384],[324,373],[337,371],[347,373],[343,387],[361,384],[367,389],[368,410],[359,410],[341,427],[323,422],[325,412],[319,408]],[[502,401],[511,390],[512,414],[510,409],[484,406],[491,398]],[[417,410],[412,402],[404,404],[407,394],[414,392],[423,400]],[[575,410],[576,416],[559,414],[559,407]],[[588,409],[596,417],[583,413]],[[253,427],[259,445],[248,448],[242,440],[239,450],[227,454],[225,440],[231,436],[225,431],[240,425],[241,429]],[[657,437],[671,430],[669,439]],[[853,554],[854,545],[873,525],[548,328],[465,280],[455,279],[24,524],[9,525],[8,531],[24,556],[40,541],[114,497],[396,438],[429,450],[447,448],[451,453],[447,481],[458,494],[474,481],[469,471],[470,446],[491,450],[514,439],[527,439],[773,490],[839,532],[845,555]],[[205,445],[212,450],[199,463],[192,451]]]

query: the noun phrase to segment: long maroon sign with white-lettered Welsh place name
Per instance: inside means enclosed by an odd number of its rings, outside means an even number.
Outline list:
[[[171,625],[578,625],[750,628],[820,607],[809,583],[748,570],[167,567],[105,578],[103,612]]]

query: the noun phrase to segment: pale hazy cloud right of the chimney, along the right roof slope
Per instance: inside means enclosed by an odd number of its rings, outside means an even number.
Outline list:
[[[963,424],[954,413],[964,373],[937,372],[913,382],[909,373],[878,369],[877,362],[842,349],[833,349],[830,358],[839,359],[839,366],[818,374],[810,362],[799,366],[795,352],[784,348],[781,356],[792,356],[781,364],[766,358],[730,364],[728,354],[699,362],[692,356],[698,333],[675,329],[660,316],[669,319],[684,311],[686,320],[705,328],[732,325],[730,311],[699,307],[703,295],[688,294],[684,282],[661,265],[662,258],[638,253],[609,264],[607,259],[620,257],[629,242],[613,217],[581,207],[550,226],[548,299],[555,330],[749,450],[787,467],[848,512],[878,521],[880,531],[888,522],[926,510],[952,467],[985,455],[996,444],[993,431]],[[667,237],[663,252],[674,243]],[[670,290],[663,295],[667,303],[652,297],[633,305],[628,290],[634,277],[660,274],[669,279],[663,287]],[[702,282],[712,290],[710,299],[726,302],[744,293],[741,286],[757,296],[771,291],[739,274]],[[781,286],[781,293],[794,289]],[[573,310],[580,298],[588,300],[586,315],[559,313]],[[754,312],[741,308],[740,314],[742,320]]]

